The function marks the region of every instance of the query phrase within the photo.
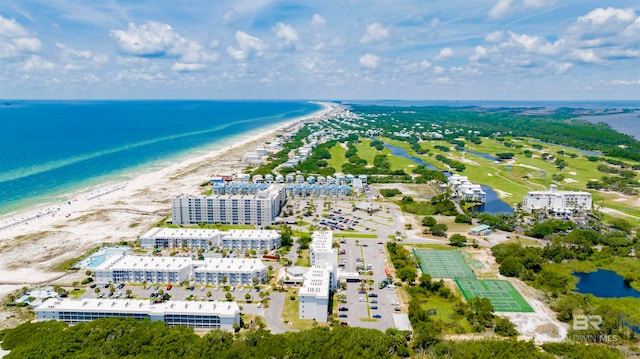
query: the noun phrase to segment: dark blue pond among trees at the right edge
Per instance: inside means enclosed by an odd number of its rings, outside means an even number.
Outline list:
[[[615,272],[599,269],[595,272],[573,272],[578,277],[576,292],[592,294],[598,298],[640,298],[640,292],[624,282],[624,278]]]

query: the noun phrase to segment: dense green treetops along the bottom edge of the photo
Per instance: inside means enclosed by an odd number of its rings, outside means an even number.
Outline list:
[[[423,339],[425,339],[423,337]],[[623,358],[616,351],[583,344],[547,344],[517,340],[422,341],[413,354],[407,336],[395,329],[317,327],[271,334],[257,329],[232,334],[211,331],[198,336],[186,327],[134,319],[101,319],[67,326],[45,321],[0,332],[11,358]]]

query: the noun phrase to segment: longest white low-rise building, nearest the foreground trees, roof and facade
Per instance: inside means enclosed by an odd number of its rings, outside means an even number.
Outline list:
[[[70,299],[50,298],[34,309],[38,320],[59,320],[78,324],[112,317],[163,321],[169,326],[232,331],[240,325],[240,308],[236,302],[194,302],[172,300],[153,303],[139,299]]]

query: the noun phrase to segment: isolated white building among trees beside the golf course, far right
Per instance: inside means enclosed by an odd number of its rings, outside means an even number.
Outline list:
[[[590,193],[558,191],[556,185],[551,185],[549,191],[527,193],[523,203],[523,207],[529,211],[542,209],[562,214],[588,211],[591,206]]]

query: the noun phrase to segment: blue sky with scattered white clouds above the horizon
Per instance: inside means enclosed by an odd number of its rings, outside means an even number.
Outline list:
[[[3,0],[3,99],[638,100],[628,0]]]

